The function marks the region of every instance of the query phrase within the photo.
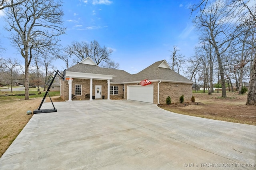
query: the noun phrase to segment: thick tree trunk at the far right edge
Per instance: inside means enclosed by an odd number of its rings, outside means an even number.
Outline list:
[[[251,68],[246,105],[256,105],[256,54]]]

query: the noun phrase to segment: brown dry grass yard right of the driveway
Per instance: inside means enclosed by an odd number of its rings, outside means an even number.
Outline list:
[[[193,95],[196,99],[195,103],[172,103],[159,107],[183,115],[256,125],[256,106],[245,105],[247,94],[227,92],[227,98],[222,98],[221,92],[212,95],[208,93],[193,93]]]

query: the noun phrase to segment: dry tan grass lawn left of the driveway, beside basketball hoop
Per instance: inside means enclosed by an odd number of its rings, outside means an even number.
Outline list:
[[[51,98],[62,101],[60,97]],[[27,111],[38,109],[41,101],[42,98],[0,101],[0,157],[31,119],[32,115],[27,115]]]

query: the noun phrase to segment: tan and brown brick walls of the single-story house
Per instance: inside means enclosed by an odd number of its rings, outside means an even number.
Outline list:
[[[82,95],[76,96],[77,99],[85,99],[85,95],[90,93],[90,79],[74,79],[72,81],[72,94],[74,94],[75,85],[82,85]],[[108,97],[108,84],[106,80],[93,80],[92,81],[92,94],[95,95],[95,85],[102,86],[102,95],[105,99]],[[110,95],[110,99],[127,99],[127,86],[137,85],[137,83],[126,84],[125,86],[120,84],[110,84],[113,86],[118,86],[118,95]],[[154,85],[154,104],[158,104],[158,82],[152,82]],[[178,86],[177,86],[178,85]],[[123,91],[123,86],[125,87],[125,95]],[[61,98],[68,100],[68,81],[61,81]],[[180,96],[184,95],[184,102],[190,102],[192,97],[192,85],[182,84],[182,83],[160,83],[159,90],[159,103],[165,104],[166,98],[171,97],[172,103],[179,103]]]

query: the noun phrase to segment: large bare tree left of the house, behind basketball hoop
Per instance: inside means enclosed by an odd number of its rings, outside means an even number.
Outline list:
[[[7,9],[6,30],[10,39],[25,60],[25,99],[29,99],[29,66],[33,50],[51,50],[57,45],[58,36],[64,34],[61,0],[26,0],[21,4],[11,3]]]

